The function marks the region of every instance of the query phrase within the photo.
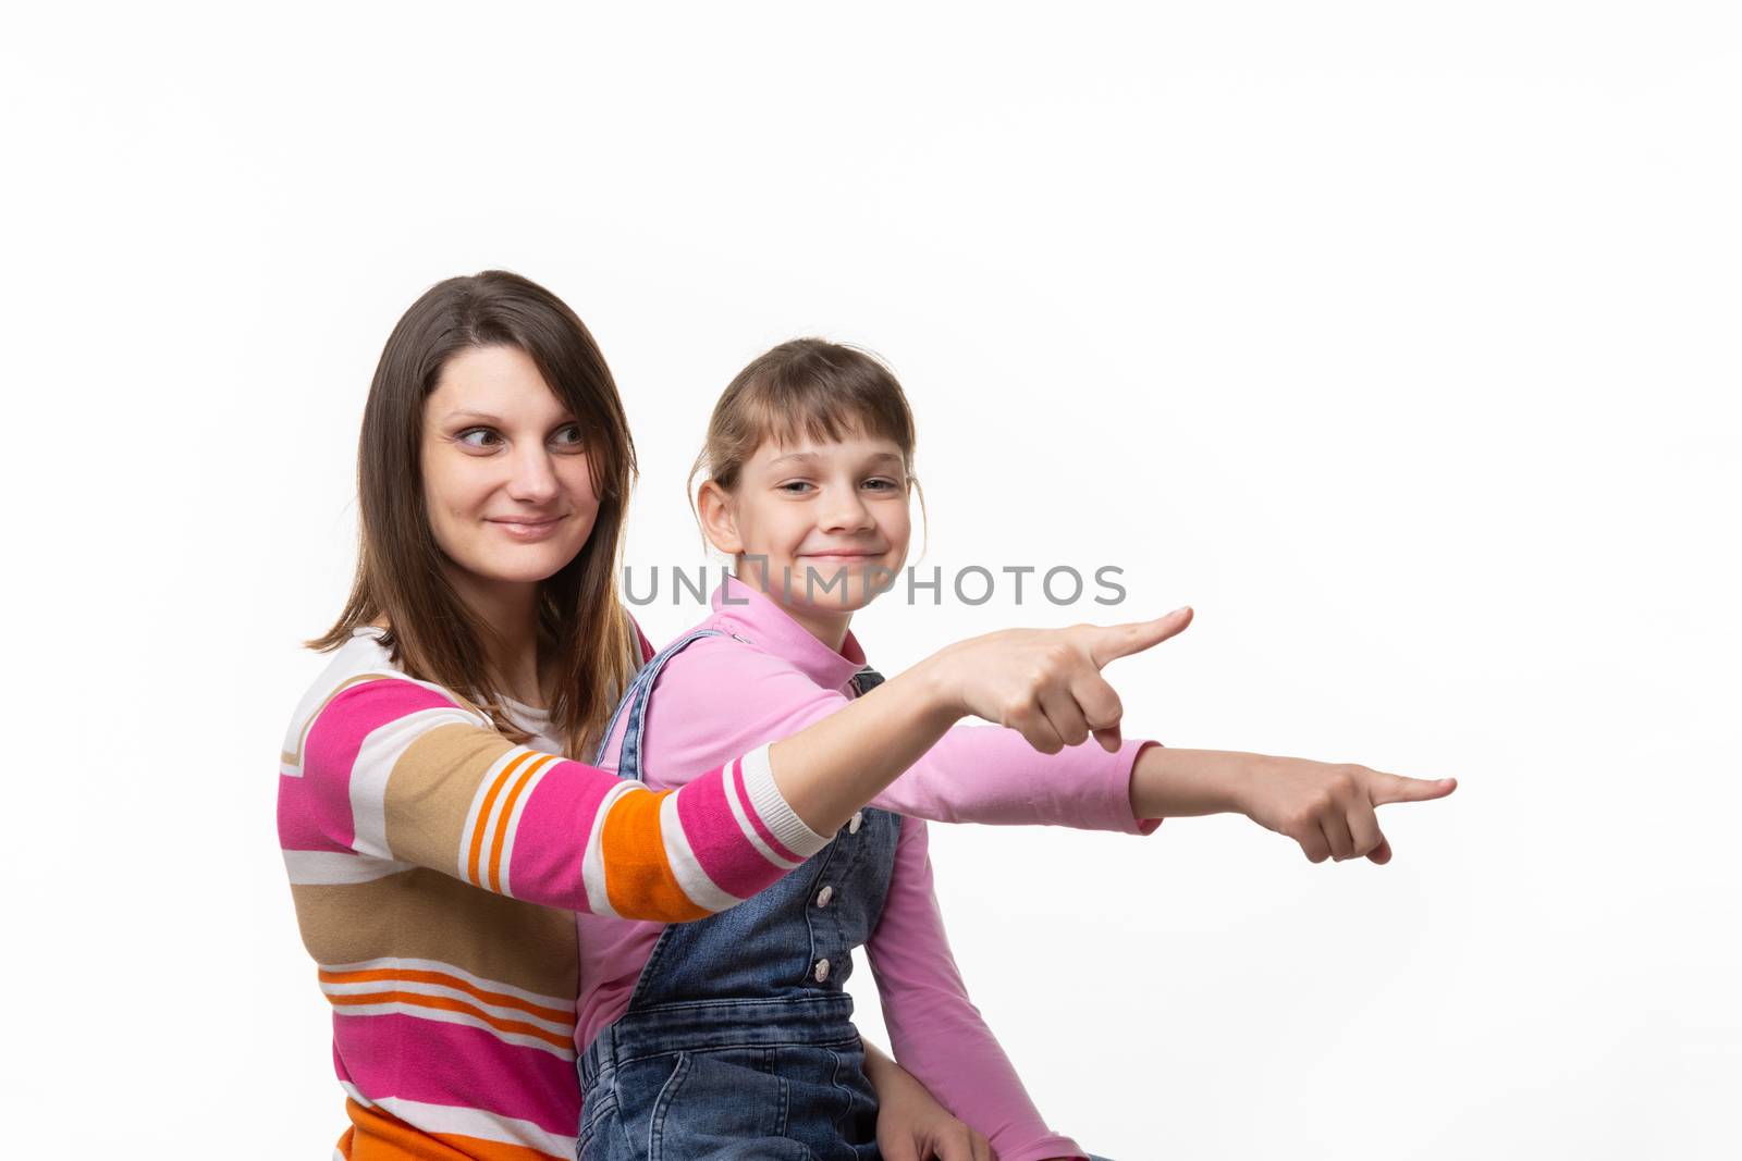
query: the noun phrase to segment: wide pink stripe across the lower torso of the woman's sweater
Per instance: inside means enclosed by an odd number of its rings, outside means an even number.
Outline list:
[[[573,1137],[580,1128],[575,1064],[507,1044],[483,1029],[404,1015],[333,1015],[340,1076],[371,1100],[399,1097],[483,1109]]]

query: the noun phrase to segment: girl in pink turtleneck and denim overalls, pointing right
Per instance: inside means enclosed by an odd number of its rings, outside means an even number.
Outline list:
[[[679,785],[683,771],[845,712],[881,681],[848,625],[906,559],[913,446],[901,385],[852,348],[786,343],[726,386],[697,460],[707,472],[697,507],[733,576],[712,614],[636,677],[603,768]],[[1021,816],[1038,795],[1054,822],[1108,830],[1244,809],[1310,858],[1374,862],[1387,858],[1374,802],[1449,792],[1362,768],[1118,743],[1110,731],[1101,747],[1080,745],[1096,724],[1042,700],[1024,726],[1045,735],[1047,757],[1010,729],[951,729],[873,799],[883,809],[855,811],[798,874],[730,914],[683,928],[584,916],[582,1161],[876,1158],[876,1097],[843,990],[859,945],[915,1077],[1003,1161],[1082,1156],[1035,1111],[951,961],[916,818],[953,816],[942,787],[977,783],[982,818]]]

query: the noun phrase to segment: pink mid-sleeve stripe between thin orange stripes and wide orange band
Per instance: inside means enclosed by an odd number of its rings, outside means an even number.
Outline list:
[[[509,882],[516,898],[545,907],[592,910],[582,867],[599,802],[617,785],[592,766],[552,762],[526,797],[514,829]]]

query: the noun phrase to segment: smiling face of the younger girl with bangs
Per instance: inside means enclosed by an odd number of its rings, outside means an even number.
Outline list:
[[[908,559],[908,470],[888,439],[765,442],[733,493],[702,493],[709,538],[737,557],[739,580],[836,646]]]

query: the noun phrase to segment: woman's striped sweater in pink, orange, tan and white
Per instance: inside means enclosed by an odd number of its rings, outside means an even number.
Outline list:
[[[648,790],[516,745],[394,667],[334,653],[291,721],[279,844],[333,1006],[350,1161],[571,1158],[575,912],[676,923],[749,898],[826,842],[766,747]]]

